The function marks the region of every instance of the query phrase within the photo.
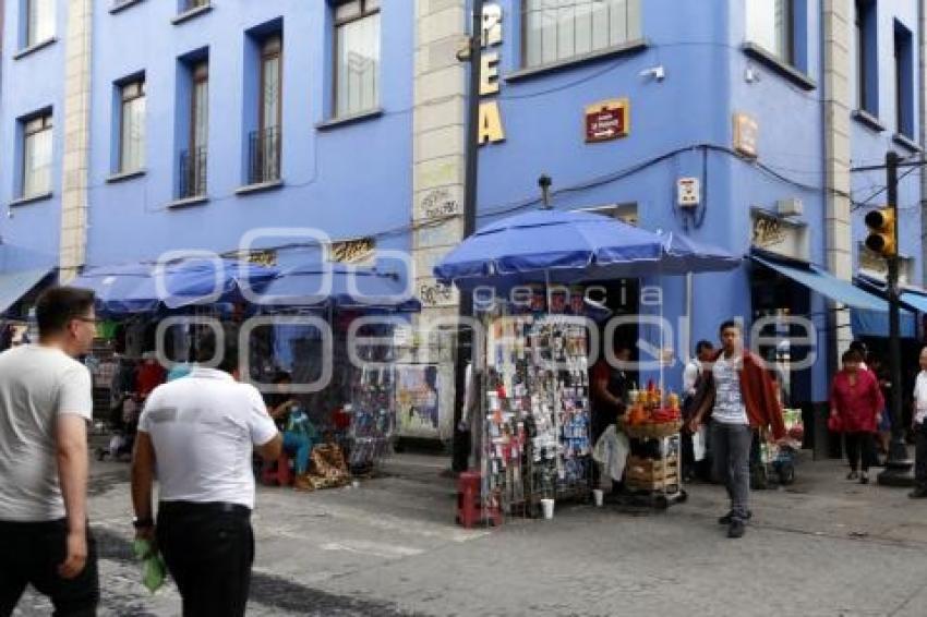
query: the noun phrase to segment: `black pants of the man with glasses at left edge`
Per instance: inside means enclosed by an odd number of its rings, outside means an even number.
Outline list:
[[[56,616],[97,614],[99,573],[96,542],[87,530],[87,564],[73,579],[58,576],[64,562],[68,523],[0,521],[0,617],[9,617],[27,584],[47,595]]]

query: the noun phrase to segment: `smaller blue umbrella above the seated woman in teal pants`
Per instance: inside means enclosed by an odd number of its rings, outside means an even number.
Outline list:
[[[405,313],[421,310],[399,277],[374,268],[314,262],[279,275],[263,290],[266,306],[334,306],[377,308]]]

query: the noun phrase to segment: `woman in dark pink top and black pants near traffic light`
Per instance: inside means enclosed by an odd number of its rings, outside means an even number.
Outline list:
[[[846,458],[850,459],[847,480],[869,482],[869,465],[876,459],[876,433],[886,401],[879,382],[871,371],[860,367],[863,356],[858,351],[843,354],[843,370],[833,378],[830,395],[830,413],[835,416],[844,434]],[[862,473],[857,474],[862,449]]]

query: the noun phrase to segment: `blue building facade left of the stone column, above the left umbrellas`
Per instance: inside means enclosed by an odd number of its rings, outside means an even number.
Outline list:
[[[412,33],[410,7],[376,10],[383,46],[375,64],[378,97],[352,122],[339,123],[335,95],[335,8],[327,2],[213,2],[184,11],[183,2],[94,2],[91,134],[85,265],[155,259],[166,251],[239,246],[255,228],[313,228],[333,239],[375,237],[377,246],[408,250],[411,202]],[[388,4],[388,5],[386,5]],[[29,53],[17,28],[25,2],[8,2],[4,32],[2,138],[22,160],[21,118],[50,109],[52,186],[61,185],[68,2],[58,2],[57,36]],[[184,19],[186,17],[186,19]],[[256,181],[254,146],[261,99],[261,46],[279,41],[278,118],[265,142],[269,182]],[[196,147],[198,183],[183,198],[189,167],[192,69],[207,71],[207,129]],[[39,78],[37,76],[40,75]],[[141,125],[123,122],[122,88],[144,84]],[[131,169],[122,169],[121,134],[140,132]],[[269,145],[267,145],[269,144]],[[258,148],[260,149],[260,148]],[[260,153],[258,153],[260,154]],[[141,158],[139,158],[141,156]],[[57,264],[60,192],[22,197],[21,164],[2,173],[11,216],[0,233]],[[261,165],[258,164],[260,168]],[[267,169],[261,170],[267,172]],[[294,235],[299,235],[298,233]],[[255,246],[293,243],[284,235]],[[280,259],[288,259],[286,251]],[[36,264],[36,265],[37,265]]]

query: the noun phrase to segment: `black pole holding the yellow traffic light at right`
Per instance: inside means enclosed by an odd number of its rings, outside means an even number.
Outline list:
[[[889,458],[886,470],[879,474],[879,484],[889,486],[911,486],[914,477],[911,474],[912,462],[904,444],[904,425],[902,424],[902,383],[901,383],[901,332],[899,306],[899,257],[898,257],[898,166],[899,156],[894,152],[886,155],[886,174],[888,186],[888,207],[894,214],[895,247],[888,257],[888,292],[889,292],[889,365],[891,367],[891,414],[892,440],[889,447]]]

